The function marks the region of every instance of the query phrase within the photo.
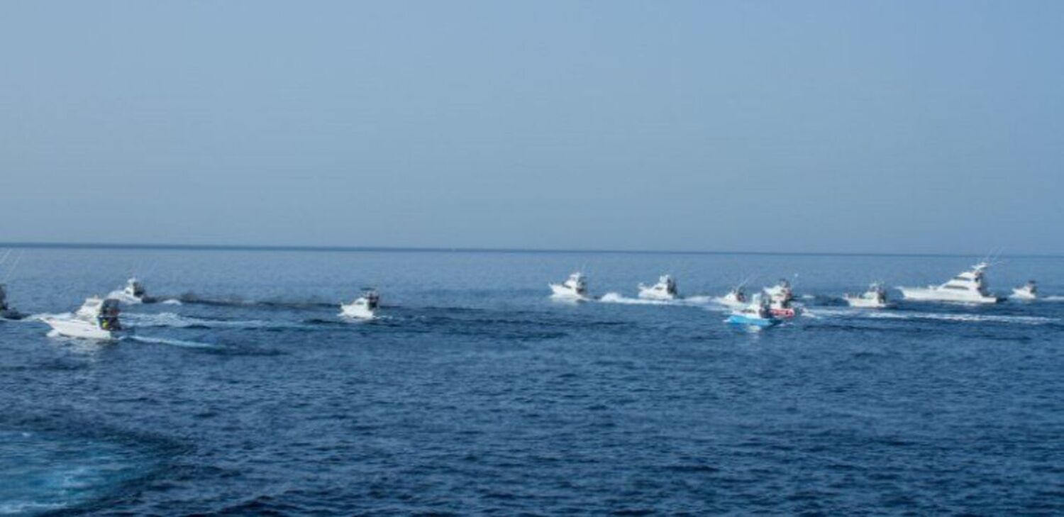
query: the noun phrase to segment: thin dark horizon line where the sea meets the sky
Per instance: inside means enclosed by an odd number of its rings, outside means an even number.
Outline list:
[[[160,244],[160,243],[64,243],[64,241],[11,241],[0,243],[0,248],[28,249],[85,249],[85,250],[185,250],[185,251],[295,251],[295,252],[449,252],[449,253],[594,253],[594,254],[689,254],[689,255],[801,255],[801,256],[968,256],[976,253],[958,252],[847,252],[847,251],[734,251],[734,250],[622,250],[622,249],[566,249],[566,248],[491,248],[491,247],[419,247],[419,246],[321,246],[321,245],[212,245],[212,244]],[[1017,258],[1062,258],[1060,253],[1001,254]]]

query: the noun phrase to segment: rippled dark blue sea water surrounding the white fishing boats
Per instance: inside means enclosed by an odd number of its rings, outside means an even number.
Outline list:
[[[0,322],[0,513],[1059,514],[1064,260],[991,271],[1054,301],[835,299],[970,262],[28,250],[26,313],[131,272],[183,302],[126,307],[112,345]],[[575,268],[628,298],[548,299]],[[632,302],[666,271],[691,296],[789,277],[811,314],[754,334]],[[339,319],[364,285],[383,317]]]

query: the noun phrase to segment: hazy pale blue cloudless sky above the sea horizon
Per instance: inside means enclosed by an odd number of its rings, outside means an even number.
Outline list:
[[[0,2],[0,240],[1064,252],[1064,2]]]

